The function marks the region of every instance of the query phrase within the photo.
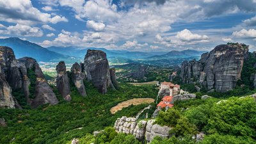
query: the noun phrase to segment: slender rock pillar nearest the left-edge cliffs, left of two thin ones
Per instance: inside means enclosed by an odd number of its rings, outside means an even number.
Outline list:
[[[70,101],[70,84],[68,75],[66,72],[66,65],[64,61],[60,61],[56,66],[57,79],[56,79],[56,87],[61,93],[63,99]]]

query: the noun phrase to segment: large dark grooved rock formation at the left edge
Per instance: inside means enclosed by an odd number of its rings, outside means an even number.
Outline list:
[[[17,100],[12,97],[12,90],[22,90],[28,104],[32,108],[36,108],[40,104],[50,103],[57,104],[55,94],[51,87],[44,79],[44,74],[38,63],[33,58],[20,58],[16,60],[15,55],[10,47],[0,47],[0,66],[1,66],[1,96],[3,99],[0,103],[4,103],[8,108],[20,108]],[[29,93],[29,86],[31,86],[31,79],[28,77],[29,72],[33,73],[35,77],[35,93]],[[32,74],[31,73],[31,74]],[[29,95],[35,95],[31,99]],[[6,101],[6,98],[8,100]],[[13,105],[14,102],[14,105]]]

